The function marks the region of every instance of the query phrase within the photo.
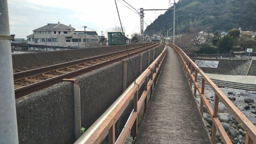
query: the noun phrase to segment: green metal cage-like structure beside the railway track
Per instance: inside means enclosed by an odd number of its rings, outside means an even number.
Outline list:
[[[108,32],[108,45],[123,45],[125,44],[124,33]]]

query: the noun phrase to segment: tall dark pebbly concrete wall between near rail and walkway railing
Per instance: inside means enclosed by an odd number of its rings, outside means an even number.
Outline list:
[[[142,54],[142,71],[148,67],[148,51]],[[147,58],[147,59],[146,59]],[[133,82],[127,60],[127,86]],[[153,50],[150,50],[153,60]],[[140,55],[131,57],[135,77],[139,76]],[[152,61],[150,61],[151,63]],[[88,129],[102,113],[123,93],[123,62],[76,77],[80,84],[81,125]],[[73,143],[74,99],[71,82],[62,82],[39,92],[16,99],[19,143]],[[141,87],[139,94],[142,93]],[[120,117],[120,130],[124,127],[133,105]],[[121,131],[118,132],[121,132]]]

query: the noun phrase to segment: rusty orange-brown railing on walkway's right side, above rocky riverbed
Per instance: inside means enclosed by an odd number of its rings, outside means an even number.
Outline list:
[[[228,137],[228,134],[224,130],[223,126],[218,119],[218,103],[221,101],[229,112],[236,118],[236,121],[243,127],[246,132],[245,143],[253,144],[253,141],[256,142],[256,127],[250,122],[250,120],[236,107],[235,104],[216,86],[212,80],[188,57],[188,55],[183,52],[178,46],[169,44],[180,57],[183,69],[187,73],[187,78],[190,82],[190,87],[192,88],[192,82],[194,83],[194,96],[196,97],[196,91],[201,96],[200,102],[200,113],[203,116],[203,105],[206,106],[208,113],[212,118],[212,143],[215,144],[215,135],[216,129],[220,133],[221,139],[224,143],[232,144],[231,140]],[[193,76],[193,70],[195,70],[195,76]],[[197,74],[202,76],[202,87],[197,82]],[[204,85],[205,82],[212,88],[215,92],[214,97],[214,106],[210,105],[209,101],[206,99],[204,94]]]

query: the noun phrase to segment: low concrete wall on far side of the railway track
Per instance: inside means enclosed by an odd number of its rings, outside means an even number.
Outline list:
[[[147,44],[148,43],[128,44],[127,46],[128,49],[130,49],[132,47],[139,47]],[[23,67],[34,67],[44,64],[51,64],[52,62],[67,61],[76,58],[85,58],[107,52],[122,51],[125,49],[125,45],[116,45],[94,48],[70,49],[63,51],[20,53],[12,55],[12,67],[13,69],[19,69]]]

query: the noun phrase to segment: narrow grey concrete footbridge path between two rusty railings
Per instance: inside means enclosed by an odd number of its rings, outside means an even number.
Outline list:
[[[171,47],[136,143],[211,143],[179,57]]]

